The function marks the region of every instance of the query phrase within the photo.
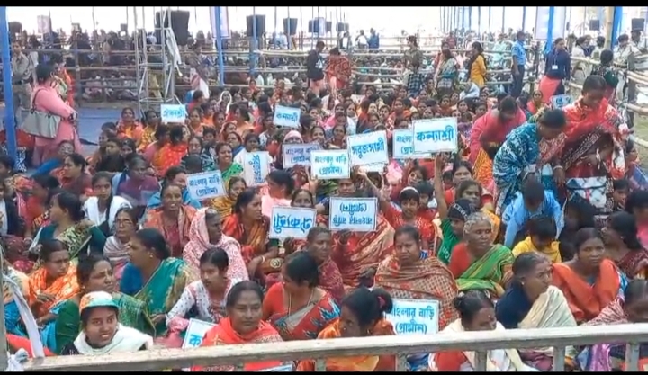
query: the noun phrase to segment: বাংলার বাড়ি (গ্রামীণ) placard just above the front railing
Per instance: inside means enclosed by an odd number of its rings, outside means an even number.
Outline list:
[[[397,335],[433,335],[438,332],[439,301],[434,299],[393,299],[387,320]]]

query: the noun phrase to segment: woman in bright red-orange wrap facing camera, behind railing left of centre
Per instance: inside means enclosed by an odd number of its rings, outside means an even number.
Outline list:
[[[201,346],[281,343],[279,335],[270,323],[263,320],[263,290],[254,281],[241,281],[229,290],[225,303],[227,317],[204,335]],[[280,371],[289,368],[291,362],[263,361],[245,363],[244,371]],[[223,372],[234,371],[234,366],[193,366],[192,371]]]

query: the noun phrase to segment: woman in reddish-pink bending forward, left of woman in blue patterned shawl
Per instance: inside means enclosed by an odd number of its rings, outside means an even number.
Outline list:
[[[496,150],[512,129],[525,122],[527,115],[510,96],[498,104],[497,110],[487,112],[474,121],[469,141],[469,160],[474,165],[474,179],[482,183],[482,186],[491,186],[492,158]]]

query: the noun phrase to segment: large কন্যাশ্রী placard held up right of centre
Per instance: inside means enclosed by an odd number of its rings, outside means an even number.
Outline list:
[[[414,152],[457,152],[457,121],[455,117],[412,121]]]

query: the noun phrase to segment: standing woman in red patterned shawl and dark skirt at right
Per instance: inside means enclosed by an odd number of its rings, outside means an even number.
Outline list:
[[[596,192],[591,189],[593,193],[587,197],[582,196],[599,215],[614,210],[612,179],[626,174],[622,143],[628,129],[619,112],[605,99],[606,88],[603,77],[588,76],[582,97],[563,108],[567,126],[561,165],[568,192],[583,192],[582,183],[590,181],[601,186]]]

